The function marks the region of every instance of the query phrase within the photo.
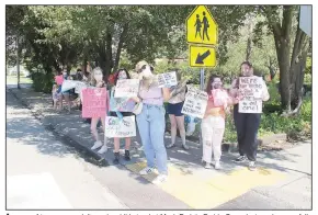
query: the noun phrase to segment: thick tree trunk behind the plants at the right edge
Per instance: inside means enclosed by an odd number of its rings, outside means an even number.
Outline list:
[[[303,102],[304,70],[309,49],[309,38],[298,25],[299,7],[265,5],[260,7],[260,11],[266,18],[263,24],[270,27],[274,36],[282,109],[285,115],[297,114]]]

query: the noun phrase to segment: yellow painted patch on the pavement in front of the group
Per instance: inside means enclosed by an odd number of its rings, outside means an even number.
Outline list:
[[[145,167],[145,162],[126,166],[127,169],[136,173]],[[241,168],[234,170],[229,174],[218,174],[208,180],[185,173],[172,165],[169,165],[168,169],[169,180],[159,186],[196,210],[214,208],[248,192],[252,188],[271,185],[285,178],[285,174],[280,171],[262,168],[253,172],[247,168]],[[156,174],[152,173],[144,178],[152,181],[155,177]]]

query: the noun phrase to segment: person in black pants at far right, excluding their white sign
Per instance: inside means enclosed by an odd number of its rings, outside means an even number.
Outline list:
[[[253,67],[249,61],[241,64],[241,77],[253,76]],[[230,93],[232,97],[241,97],[239,90],[239,79],[232,81]],[[269,90],[264,80],[262,80],[261,100],[268,101],[270,99]],[[240,156],[235,159],[236,162],[243,162],[249,159],[249,169],[254,171],[257,169],[257,151],[258,151],[258,131],[261,123],[261,113],[239,113],[239,104],[234,106],[234,120],[237,129],[237,139]]]

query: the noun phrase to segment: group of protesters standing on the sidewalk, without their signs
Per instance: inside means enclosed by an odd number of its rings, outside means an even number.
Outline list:
[[[241,77],[253,77],[252,65],[248,61],[241,64]],[[182,139],[182,147],[188,150],[189,146],[185,143],[184,115],[182,106],[186,97],[186,80],[181,78],[181,73],[177,71],[178,84],[173,87],[159,88],[156,81],[155,69],[146,61],[139,61],[135,68],[136,77],[139,79],[138,95],[126,98],[126,102],[134,106],[132,112],[121,112],[113,106],[115,86],[118,80],[130,79],[129,72],[126,69],[120,69],[113,76],[113,87],[106,83],[103,78],[103,72],[100,68],[94,68],[89,78],[91,86],[95,88],[107,89],[107,108],[106,113],[113,117],[136,117],[136,123],[139,131],[139,136],[143,144],[144,154],[147,159],[147,167],[139,173],[141,176],[151,173],[157,168],[159,176],[154,183],[162,183],[168,179],[168,159],[167,148],[175,146],[177,128]],[[56,84],[60,88],[60,82],[56,79]],[[215,93],[215,91],[218,93]],[[234,105],[234,120],[237,129],[237,139],[239,147],[239,157],[236,162],[249,160],[249,169],[255,170],[257,149],[258,149],[258,128],[260,125],[260,113],[240,113],[238,111],[239,101],[242,99],[239,89],[239,79],[232,81],[229,90],[224,89],[223,79],[218,76],[212,76],[206,84],[206,93],[208,95],[205,115],[202,120],[202,139],[203,139],[203,157],[205,168],[212,168],[212,156],[214,155],[214,167],[220,169],[222,142],[225,132],[225,116],[229,113],[229,108]],[[65,97],[66,93],[63,94]],[[262,101],[269,100],[269,91],[265,82],[262,87]],[[121,98],[122,99],[122,98]],[[171,143],[164,145],[166,131],[166,108],[171,123]],[[96,125],[102,122],[103,129],[105,127],[105,118],[91,118],[91,132],[95,139],[92,149],[99,149],[100,154],[107,150],[107,138],[102,143],[99,138]],[[125,160],[130,160],[129,155],[130,137],[125,138]],[[114,138],[114,163],[120,162],[120,138]]]

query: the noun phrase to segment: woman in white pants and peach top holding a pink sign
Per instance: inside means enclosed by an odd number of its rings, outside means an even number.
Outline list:
[[[225,112],[228,105],[234,103],[234,99],[223,89],[223,81],[217,76],[211,76],[206,92],[208,94],[207,106],[201,124],[203,138],[202,161],[206,163],[206,169],[211,169],[213,151],[215,169],[220,169],[219,160],[225,131]]]

